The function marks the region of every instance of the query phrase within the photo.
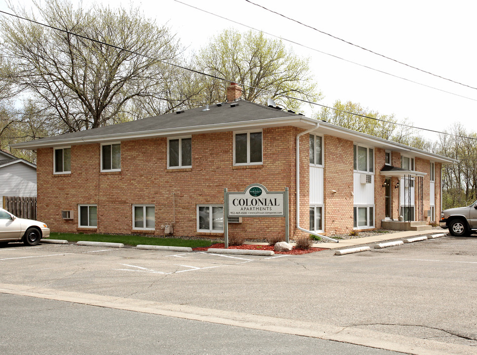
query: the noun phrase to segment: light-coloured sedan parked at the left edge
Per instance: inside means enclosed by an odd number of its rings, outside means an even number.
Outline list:
[[[48,238],[50,230],[42,222],[18,218],[0,208],[0,244],[23,242],[29,246],[40,243],[41,238]]]

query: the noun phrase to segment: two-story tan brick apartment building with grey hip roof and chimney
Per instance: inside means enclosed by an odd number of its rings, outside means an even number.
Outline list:
[[[224,188],[289,189],[289,236],[428,224],[454,160],[278,107],[240,100],[14,144],[37,150],[38,218],[57,232],[223,235]],[[298,162],[297,162],[298,157]],[[231,221],[229,221],[231,222]],[[284,234],[243,217],[231,234]]]

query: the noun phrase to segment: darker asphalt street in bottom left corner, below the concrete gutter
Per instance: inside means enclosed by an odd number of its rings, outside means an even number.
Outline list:
[[[399,354],[311,337],[34,297],[0,294],[0,303],[1,354]]]

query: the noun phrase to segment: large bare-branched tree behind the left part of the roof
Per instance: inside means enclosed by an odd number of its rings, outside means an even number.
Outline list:
[[[63,31],[3,16],[3,52],[18,67],[14,77],[18,88],[41,103],[59,132],[132,116],[127,110],[134,107],[128,105],[134,100],[165,103],[160,113],[182,105],[184,100],[171,90],[182,73],[160,62],[181,60],[178,41],[167,27],[132,7],[84,9],[70,0],[36,7],[40,19],[24,8],[13,11]]]

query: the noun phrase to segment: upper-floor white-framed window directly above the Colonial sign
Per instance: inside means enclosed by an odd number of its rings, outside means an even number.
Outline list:
[[[234,133],[234,165],[262,164],[262,131]]]

